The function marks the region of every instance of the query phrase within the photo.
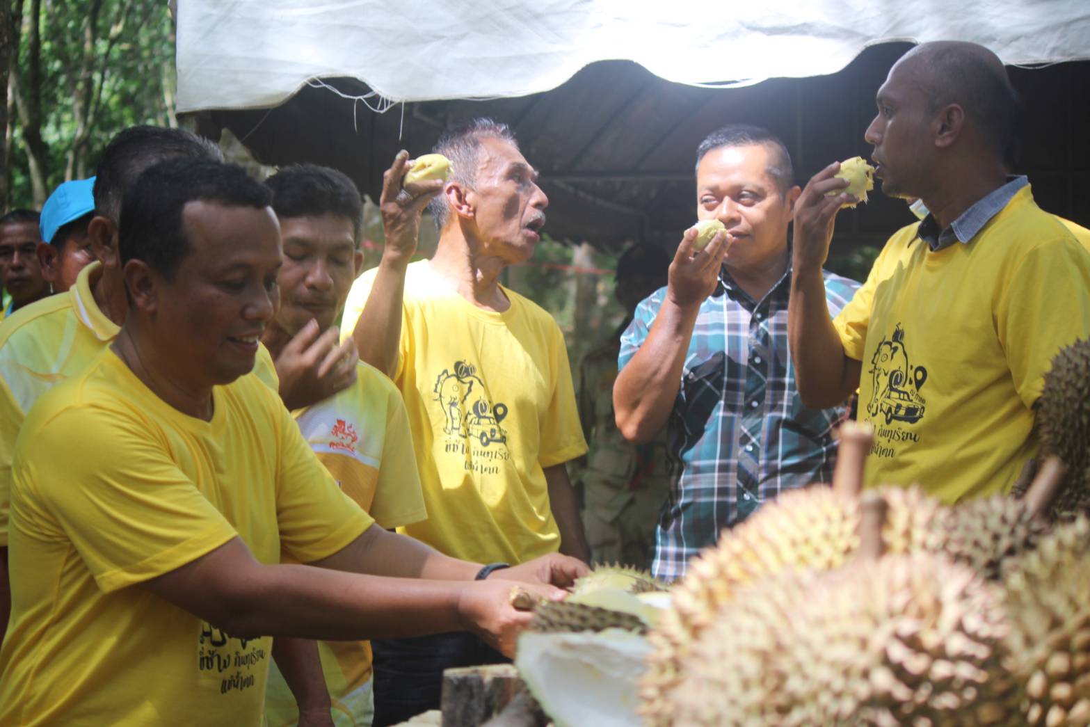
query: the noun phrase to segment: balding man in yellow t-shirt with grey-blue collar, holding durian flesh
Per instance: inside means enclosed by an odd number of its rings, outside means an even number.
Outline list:
[[[1033,405],[1064,346],[1090,335],[1090,254],[1008,181],[1016,100],[1002,62],[966,43],[903,57],[867,130],[886,194],[930,214],[895,233],[835,320],[818,271],[846,182],[819,172],[796,206],[789,329],[808,405],[860,389],[875,427],[868,485],[947,502],[1010,488],[1039,447]]]

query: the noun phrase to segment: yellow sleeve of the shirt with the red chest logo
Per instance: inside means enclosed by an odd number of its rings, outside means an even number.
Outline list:
[[[386,407],[386,439],[371,516],[387,530],[427,519],[409,413],[396,389],[390,390]]]

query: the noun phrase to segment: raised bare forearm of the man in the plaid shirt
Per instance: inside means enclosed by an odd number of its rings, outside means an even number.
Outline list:
[[[666,425],[699,312],[699,305],[680,308],[667,298],[646,340],[617,375],[614,412],[626,439],[651,441]]]

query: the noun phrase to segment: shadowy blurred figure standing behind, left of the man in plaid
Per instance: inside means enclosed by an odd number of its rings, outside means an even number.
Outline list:
[[[578,485],[594,562],[647,568],[658,510],[669,489],[666,429],[644,445],[626,441],[613,408],[620,335],[640,301],[666,284],[669,265],[669,256],[655,245],[634,245],[620,256],[615,295],[625,308],[625,320],[580,365],[579,419],[590,451]]]

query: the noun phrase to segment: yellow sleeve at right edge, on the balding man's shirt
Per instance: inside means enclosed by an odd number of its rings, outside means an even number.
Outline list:
[[[1010,272],[994,310],[1015,388],[1032,407],[1059,349],[1090,337],[1090,254],[1074,238],[1033,246]]]

